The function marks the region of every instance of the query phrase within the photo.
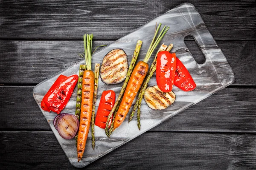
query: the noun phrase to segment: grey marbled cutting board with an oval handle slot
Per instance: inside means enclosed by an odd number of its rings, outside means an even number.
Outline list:
[[[56,113],[43,111],[40,107],[40,103],[55,79],[57,79],[60,74],[64,74],[66,76],[78,74],[79,65],[83,64],[84,60],[81,60],[81,62],[72,65],[70,68],[61,71],[60,73],[35,86],[33,90],[35,101],[38,103],[39,108],[47,119],[47,122],[63,148],[64,153],[73,166],[84,167],[90,164],[122,144],[134,139],[145,131],[159,125],[166,119],[169,119],[180,111],[183,111],[197,102],[200,102],[201,100],[207,98],[216,91],[225,88],[233,82],[234,75],[232,68],[210,34],[195,6],[190,3],[183,3],[180,6],[173,8],[160,17],[157,17],[146,25],[138,28],[133,33],[116,40],[111,45],[108,45],[106,48],[96,52],[92,57],[92,68],[94,68],[95,63],[102,63],[103,57],[114,48],[122,48],[127,54],[128,62],[130,63],[137,40],[143,41],[138,61],[142,60],[145,57],[147,49],[151,43],[156,23],[162,23],[162,28],[164,25],[170,27],[160,44],[174,44],[171,52],[176,52],[176,56],[181,60],[181,62],[183,62],[195,80],[197,88],[191,92],[184,92],[174,86],[173,92],[176,94],[176,101],[169,108],[162,111],[152,110],[145,104],[143,100],[141,106],[141,130],[138,130],[136,116],[134,116],[134,119],[128,123],[128,117],[131,111],[128,113],[128,116],[122,125],[113,131],[110,138],[105,135],[104,129],[95,126],[95,149],[93,150],[91,147],[91,132],[89,132],[82,161],[77,162],[75,139],[65,140],[61,138],[53,125],[53,119],[55,118]],[[195,59],[187,50],[184,43],[184,37],[187,35],[192,35],[195,38],[198,46],[201,48],[206,58],[204,64],[198,64],[195,62]],[[153,59],[154,55],[151,56],[148,63],[151,64]],[[96,111],[102,92],[111,89],[116,92],[117,98],[122,84],[123,82],[117,85],[106,85],[99,79]],[[148,86],[152,85],[156,85],[155,74],[148,84]],[[75,113],[76,93],[77,88],[74,90],[70,101],[67,103],[67,106],[64,108],[62,113]]]

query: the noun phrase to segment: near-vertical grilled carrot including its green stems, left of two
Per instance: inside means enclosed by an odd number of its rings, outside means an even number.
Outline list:
[[[84,54],[86,69],[82,79],[81,113],[77,137],[77,159],[80,161],[84,154],[85,144],[90,129],[93,111],[94,73],[91,71],[93,34],[84,35]]]

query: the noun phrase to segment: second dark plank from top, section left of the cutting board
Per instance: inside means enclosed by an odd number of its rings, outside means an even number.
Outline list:
[[[94,41],[109,45],[113,41]],[[0,41],[0,84],[39,83],[83,60],[83,41]],[[99,48],[100,49],[100,48]]]

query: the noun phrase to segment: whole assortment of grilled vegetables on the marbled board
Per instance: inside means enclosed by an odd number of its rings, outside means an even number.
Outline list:
[[[138,97],[129,122],[137,110],[137,125],[140,129],[140,105],[143,98],[149,108],[162,110],[175,102],[176,96],[172,92],[173,85],[183,91],[192,91],[196,88],[189,71],[176,58],[175,53],[169,52],[172,49],[172,44],[169,46],[162,44],[160,46],[149,68],[149,58],[169,29],[168,26],[164,26],[157,36],[160,27],[161,23],[158,27],[156,26],[154,37],[143,61],[137,62],[142,46],[142,41],[138,40],[129,67],[125,51],[113,49],[105,55],[101,66],[99,63],[96,63],[94,72],[91,69],[93,34],[85,34],[83,56],[85,64],[80,65],[79,76],[66,77],[61,75],[44,96],[41,108],[45,111],[54,111],[59,114],[70,99],[78,82],[75,115],[62,113],[56,116],[54,120],[56,129],[64,139],[72,139],[76,136],[78,161],[83,157],[90,127],[92,147],[94,149],[94,125],[105,129],[106,135],[110,137],[113,130],[125,121],[125,117],[137,94]],[[137,65],[135,65],[136,62]],[[155,71],[157,74],[157,85],[147,87]],[[105,89],[96,112],[99,75],[102,82],[105,82],[107,85],[125,81],[117,99],[114,91]],[[95,113],[97,113],[96,116]]]

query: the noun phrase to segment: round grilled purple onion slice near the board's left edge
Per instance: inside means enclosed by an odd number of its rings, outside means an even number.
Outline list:
[[[73,114],[62,113],[55,118],[55,128],[64,139],[72,139],[76,136],[79,121]]]

